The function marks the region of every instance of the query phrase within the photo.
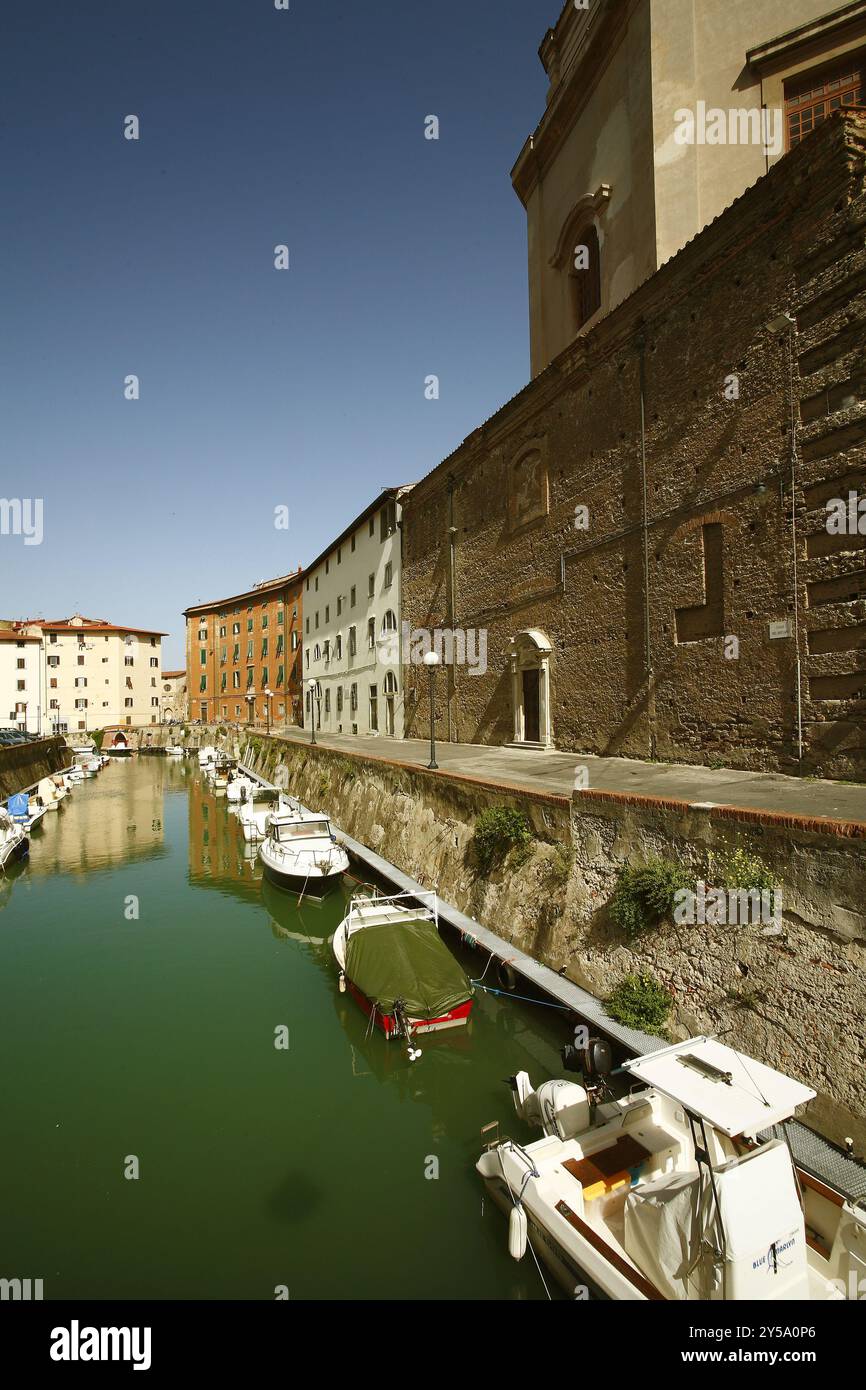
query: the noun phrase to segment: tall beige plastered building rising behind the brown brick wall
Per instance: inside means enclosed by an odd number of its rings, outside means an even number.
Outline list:
[[[866,0],[567,0],[512,171],[532,375],[815,125],[862,106],[865,54]]]

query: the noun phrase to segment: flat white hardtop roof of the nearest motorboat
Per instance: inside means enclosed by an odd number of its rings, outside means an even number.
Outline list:
[[[649,1052],[626,1070],[731,1138],[781,1125],[815,1098],[808,1086],[708,1037]]]

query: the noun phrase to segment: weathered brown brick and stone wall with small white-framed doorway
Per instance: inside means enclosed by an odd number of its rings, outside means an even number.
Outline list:
[[[441,737],[866,774],[865,174],[848,111],[416,485],[403,617],[488,641]]]

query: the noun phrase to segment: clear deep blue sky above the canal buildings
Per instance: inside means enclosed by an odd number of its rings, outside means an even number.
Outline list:
[[[0,617],[181,666],[183,607],[309,563],[525,384],[509,171],[559,8],[4,0],[0,496],[43,541],[0,535]]]

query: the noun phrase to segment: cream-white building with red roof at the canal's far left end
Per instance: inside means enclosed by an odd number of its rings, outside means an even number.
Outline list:
[[[0,632],[0,723],[7,727],[47,737],[160,721],[164,632],[79,613],[13,623]]]

